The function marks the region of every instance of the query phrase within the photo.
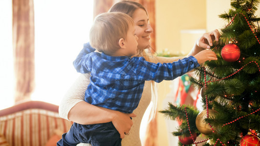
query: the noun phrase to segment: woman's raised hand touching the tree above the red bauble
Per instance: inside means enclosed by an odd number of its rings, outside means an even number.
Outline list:
[[[220,32],[215,29],[214,31],[211,31],[209,33],[204,33],[202,37],[197,40],[196,44],[200,48],[210,49],[210,46],[213,45],[213,41],[219,41],[219,38]]]

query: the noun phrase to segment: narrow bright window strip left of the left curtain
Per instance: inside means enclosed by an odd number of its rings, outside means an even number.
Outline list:
[[[0,0],[0,109],[13,104],[12,0]]]

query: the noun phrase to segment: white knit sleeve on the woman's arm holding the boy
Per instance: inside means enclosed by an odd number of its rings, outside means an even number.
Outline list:
[[[90,82],[90,73],[80,74],[60,102],[59,114],[61,118],[68,119],[69,111],[80,101],[84,101],[85,91]]]

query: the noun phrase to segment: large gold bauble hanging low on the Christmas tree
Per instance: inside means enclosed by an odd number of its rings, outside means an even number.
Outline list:
[[[209,109],[209,116],[214,116],[217,113],[216,110]],[[213,127],[210,127],[208,123],[205,122],[204,119],[207,118],[207,110],[202,110],[197,118],[196,118],[196,127],[200,131],[200,133],[205,135],[211,135]]]

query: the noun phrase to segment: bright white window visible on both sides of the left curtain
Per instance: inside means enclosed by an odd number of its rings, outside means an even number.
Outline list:
[[[34,0],[35,91],[32,100],[59,104],[79,73],[73,60],[88,42],[93,0]],[[0,0],[0,109],[14,104],[12,0]]]

